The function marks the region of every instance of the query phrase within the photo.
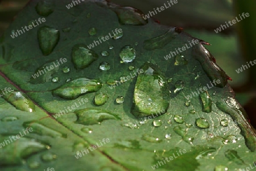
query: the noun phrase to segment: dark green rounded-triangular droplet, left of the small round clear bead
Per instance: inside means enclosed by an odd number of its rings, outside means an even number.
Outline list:
[[[97,53],[88,49],[84,44],[76,44],[72,48],[72,62],[76,69],[86,68],[97,59]]]

